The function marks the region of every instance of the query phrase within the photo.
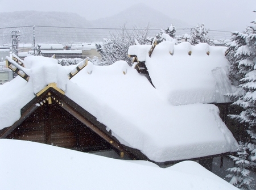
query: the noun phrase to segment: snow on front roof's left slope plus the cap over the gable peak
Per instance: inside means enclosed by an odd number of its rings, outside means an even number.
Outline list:
[[[11,58],[7,58],[15,64]],[[0,129],[13,125],[20,117],[20,109],[49,83],[57,83],[57,87],[65,91],[67,71],[55,59],[30,56],[25,58],[24,64],[26,68],[16,66],[30,76],[28,82],[18,76],[0,85]]]

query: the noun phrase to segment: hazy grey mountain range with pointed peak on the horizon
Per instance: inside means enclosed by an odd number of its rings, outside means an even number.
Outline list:
[[[171,19],[142,3],[114,16],[92,21],[71,12],[16,11],[0,13],[0,23],[0,45],[11,43],[13,29],[20,30],[20,43],[32,43],[32,26],[36,26],[36,43],[102,41],[108,38],[111,32],[117,32],[117,30],[95,28],[121,28],[123,26],[146,28],[148,26],[155,29],[150,31],[150,36],[154,36],[159,32],[156,29],[165,29],[171,24],[174,24],[176,28],[188,27],[187,23]]]

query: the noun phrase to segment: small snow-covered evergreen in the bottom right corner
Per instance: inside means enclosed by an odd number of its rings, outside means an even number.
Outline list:
[[[248,161],[249,154],[247,153],[248,143],[239,143],[237,157],[230,155],[230,158],[235,162],[233,168],[228,168],[231,174],[228,174],[226,178],[231,178],[230,183],[242,190],[251,190],[251,182],[253,178],[250,177],[250,162]]]

